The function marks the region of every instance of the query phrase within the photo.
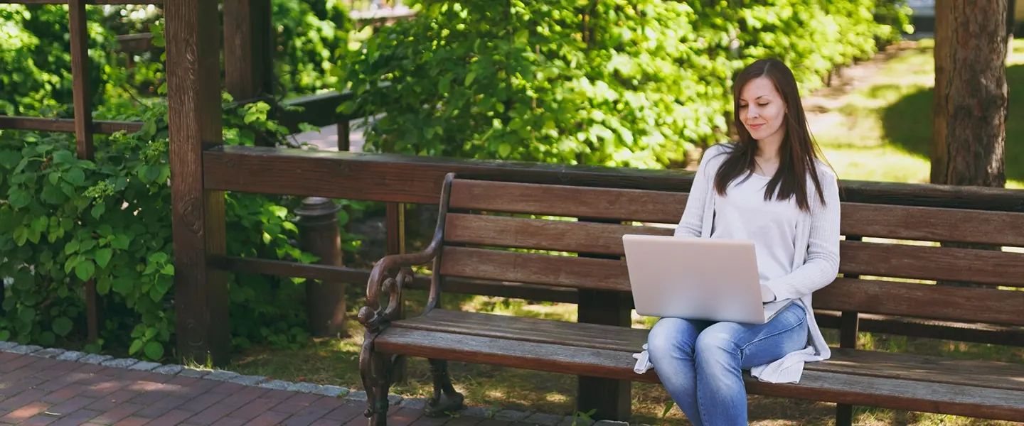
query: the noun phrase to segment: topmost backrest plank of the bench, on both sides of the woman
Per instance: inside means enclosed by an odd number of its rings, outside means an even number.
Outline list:
[[[686,193],[455,180],[450,206],[513,214],[679,223]],[[1024,246],[1024,214],[844,202],[844,235]]]

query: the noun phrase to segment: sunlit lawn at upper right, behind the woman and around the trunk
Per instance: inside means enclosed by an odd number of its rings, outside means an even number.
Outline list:
[[[820,103],[827,106],[812,109],[818,114],[814,136],[841,179],[929,181],[933,43],[906,46],[878,68],[869,84],[852,93],[825,95]],[[1008,65],[1007,187],[1024,188],[1024,40],[1012,45]]]

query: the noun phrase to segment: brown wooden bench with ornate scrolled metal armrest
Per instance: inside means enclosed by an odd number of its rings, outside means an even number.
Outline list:
[[[622,235],[671,235],[671,227],[649,225],[674,225],[685,201],[686,194],[679,192],[449,175],[429,247],[386,256],[371,274],[367,306],[359,312],[367,328],[359,366],[371,423],[386,422],[389,369],[400,356],[430,360],[435,388],[430,414],[463,404],[446,361],[657,382],[653,370],[633,372],[631,356],[646,341],[647,330],[445,311],[437,309],[440,280],[629,292]],[[1022,247],[1024,214],[851,202],[844,202],[842,210],[842,277],[814,294],[814,307],[819,322],[842,326],[846,347],[836,348],[828,361],[808,364],[799,384],[763,383],[748,375],[748,391],[837,403],[838,424],[849,424],[851,405],[1024,420],[1024,365],[853,348],[858,313],[899,319],[894,324],[1019,331],[1024,326],[1019,288],[1024,287],[1024,253],[906,240]],[[397,300],[417,265],[428,265],[434,274],[430,298],[424,314],[398,320]],[[829,313],[837,321],[826,321]]]

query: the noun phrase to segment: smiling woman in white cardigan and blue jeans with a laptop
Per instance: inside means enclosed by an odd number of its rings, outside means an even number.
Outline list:
[[[805,362],[830,354],[811,293],[839,272],[836,176],[819,159],[784,63],[752,63],[737,77],[733,98],[739,141],[705,152],[676,235],[753,240],[762,300],[794,302],[760,325],[677,318],[654,325],[650,363],[697,426],[746,424],[741,370],[763,381],[797,382]]]

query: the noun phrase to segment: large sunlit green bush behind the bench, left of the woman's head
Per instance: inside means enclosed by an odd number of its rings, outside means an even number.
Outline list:
[[[779,57],[806,90],[872,54],[876,3],[425,0],[342,59],[342,107],[385,114],[367,149],[664,167],[728,138],[746,63]]]

